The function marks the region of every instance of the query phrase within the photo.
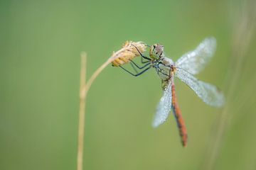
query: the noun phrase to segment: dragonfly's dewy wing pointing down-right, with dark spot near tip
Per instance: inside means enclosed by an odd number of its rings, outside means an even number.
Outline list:
[[[214,107],[223,106],[225,98],[217,87],[196,79],[192,74],[180,68],[176,68],[175,76],[195,91],[196,95],[206,104]]]

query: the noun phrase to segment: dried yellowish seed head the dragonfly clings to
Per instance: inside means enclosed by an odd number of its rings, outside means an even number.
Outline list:
[[[140,56],[139,52],[143,53],[146,50],[146,45],[143,42],[132,42],[126,41],[120,50],[113,52],[112,66],[118,67],[119,65],[125,64],[132,60],[134,57]]]

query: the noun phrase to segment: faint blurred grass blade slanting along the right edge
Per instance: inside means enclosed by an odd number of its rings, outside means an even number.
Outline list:
[[[235,18],[234,34],[233,34],[233,44],[232,44],[232,57],[229,73],[227,74],[227,95],[226,104],[223,111],[220,113],[216,120],[216,125],[212,135],[210,137],[210,144],[208,146],[208,151],[206,152],[206,157],[203,162],[202,169],[213,169],[215,166],[216,159],[220,152],[220,147],[223,142],[223,136],[228,130],[228,125],[231,115],[230,106],[233,96],[235,95],[235,90],[238,88],[237,84],[240,79],[240,74],[242,72],[243,62],[245,60],[248,47],[251,43],[252,35],[255,33],[255,21],[251,16],[255,16],[255,2],[244,4],[241,16],[239,19]],[[231,69],[234,68],[235,69]]]

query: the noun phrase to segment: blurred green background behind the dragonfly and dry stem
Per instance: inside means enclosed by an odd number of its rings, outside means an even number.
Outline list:
[[[164,45],[173,60],[215,36],[198,78],[223,89],[206,106],[176,80],[188,129],[151,128],[154,69],[107,67],[87,96],[84,169],[256,169],[254,1],[0,1],[0,169],[76,169],[80,52],[87,77],[125,40]]]

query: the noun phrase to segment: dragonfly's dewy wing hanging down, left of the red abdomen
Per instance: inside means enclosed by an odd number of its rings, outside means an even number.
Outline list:
[[[156,114],[152,126],[156,128],[157,126],[164,123],[171,111],[171,81],[169,81],[168,86],[164,90],[164,95],[161,97],[157,107]]]

